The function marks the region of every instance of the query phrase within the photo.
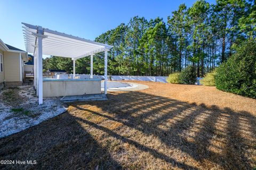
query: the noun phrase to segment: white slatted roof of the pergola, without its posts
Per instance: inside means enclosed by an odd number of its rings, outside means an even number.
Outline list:
[[[38,28],[42,27],[27,23],[22,24],[24,25],[22,28],[26,50],[29,53],[34,53],[37,46],[37,38],[35,35],[38,33]],[[73,35],[67,35],[66,33],[50,29],[44,28],[43,31],[45,38],[43,39],[42,51],[44,55],[55,55],[78,59],[112,48],[112,46],[107,44],[79,38]]]

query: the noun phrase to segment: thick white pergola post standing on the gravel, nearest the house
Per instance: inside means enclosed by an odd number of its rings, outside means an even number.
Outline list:
[[[43,29],[38,28],[38,103],[43,104]]]

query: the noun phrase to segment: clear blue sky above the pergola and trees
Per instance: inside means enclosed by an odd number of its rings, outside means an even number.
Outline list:
[[[144,16],[147,20],[159,16],[166,21],[167,16],[177,10],[180,4],[185,3],[189,7],[194,2],[195,0],[0,0],[0,38],[6,44],[25,50],[21,22],[26,22],[94,40],[118,24],[129,22],[133,16]]]

